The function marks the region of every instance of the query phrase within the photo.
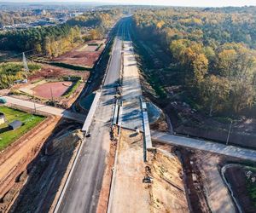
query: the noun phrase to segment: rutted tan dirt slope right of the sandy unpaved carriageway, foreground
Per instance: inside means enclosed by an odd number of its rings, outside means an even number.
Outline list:
[[[183,168],[177,156],[157,149],[148,165],[154,178],[150,187],[152,212],[189,212]]]

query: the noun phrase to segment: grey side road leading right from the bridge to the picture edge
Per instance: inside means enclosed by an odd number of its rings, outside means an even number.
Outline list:
[[[151,131],[151,137],[154,141],[160,141],[166,144],[200,149],[211,153],[218,153],[230,157],[256,161],[256,151],[247,148],[226,146],[217,142],[202,141],[183,136],[169,135],[165,132]]]

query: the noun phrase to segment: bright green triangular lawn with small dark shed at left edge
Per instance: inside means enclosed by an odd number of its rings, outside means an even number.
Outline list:
[[[9,107],[1,106],[0,112],[3,112],[7,119],[5,124],[0,125],[0,151],[44,120],[44,117],[21,112]],[[8,130],[8,123],[14,120],[20,120],[23,125],[18,130]]]

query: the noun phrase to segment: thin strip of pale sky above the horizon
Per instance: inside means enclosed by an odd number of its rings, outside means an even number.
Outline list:
[[[0,0],[0,2],[51,2],[52,0]],[[55,0],[54,2],[93,2],[93,0]],[[224,7],[255,5],[256,0],[95,0],[97,3],[149,4],[193,7]]]

